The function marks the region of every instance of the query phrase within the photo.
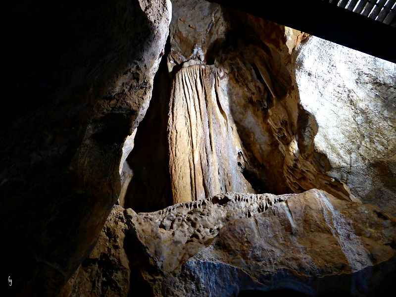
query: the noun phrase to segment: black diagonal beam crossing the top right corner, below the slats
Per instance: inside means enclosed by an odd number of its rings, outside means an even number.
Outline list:
[[[210,0],[396,62],[396,17],[390,25],[327,1]],[[337,1],[338,2],[338,1]],[[385,4],[382,3],[381,5]],[[318,13],[320,11],[320,13]],[[335,21],[337,20],[337,21]],[[369,36],[369,38],[368,38]]]

